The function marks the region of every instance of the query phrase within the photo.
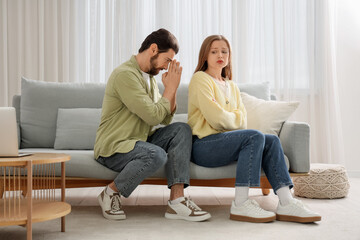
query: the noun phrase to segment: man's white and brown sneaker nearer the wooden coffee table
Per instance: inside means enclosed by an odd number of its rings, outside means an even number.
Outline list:
[[[110,220],[126,219],[126,215],[121,207],[121,199],[119,193],[113,193],[112,196],[106,193],[106,188],[98,196],[98,201],[102,209],[104,218]]]

